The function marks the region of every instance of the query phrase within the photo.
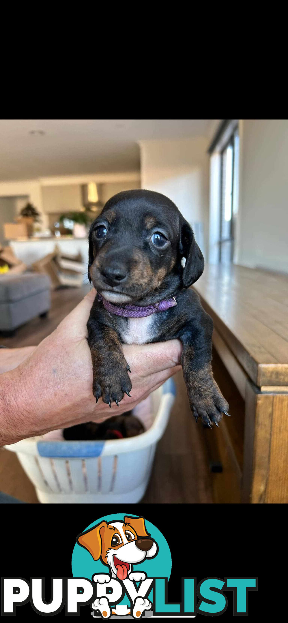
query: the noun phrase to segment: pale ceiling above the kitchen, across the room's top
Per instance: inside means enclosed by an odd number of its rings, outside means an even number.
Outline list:
[[[209,138],[213,119],[0,120],[0,180],[137,171],[137,141]],[[45,134],[31,134],[42,130]]]

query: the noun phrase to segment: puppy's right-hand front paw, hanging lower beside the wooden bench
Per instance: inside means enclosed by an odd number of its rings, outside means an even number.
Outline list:
[[[222,396],[216,381],[212,378],[211,383],[208,383],[204,390],[202,386],[199,391],[197,390],[197,386],[194,386],[191,391],[188,391],[191,411],[196,422],[198,417],[201,417],[203,424],[209,428],[213,426],[213,423],[219,428],[222,414],[229,416],[229,404]]]

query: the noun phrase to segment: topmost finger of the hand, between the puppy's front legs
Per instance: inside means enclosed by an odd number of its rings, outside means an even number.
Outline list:
[[[154,344],[124,345],[123,351],[130,368],[138,376],[148,376],[181,364],[182,344],[179,340]]]

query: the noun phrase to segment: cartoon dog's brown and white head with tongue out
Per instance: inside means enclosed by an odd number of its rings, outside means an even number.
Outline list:
[[[118,579],[125,579],[132,564],[154,558],[158,545],[146,531],[143,517],[124,517],[124,521],[102,521],[77,536],[77,543],[87,549],[94,560],[101,559]]]

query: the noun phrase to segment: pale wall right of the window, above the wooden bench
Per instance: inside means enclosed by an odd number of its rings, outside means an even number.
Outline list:
[[[288,272],[288,121],[239,123],[236,262]]]

